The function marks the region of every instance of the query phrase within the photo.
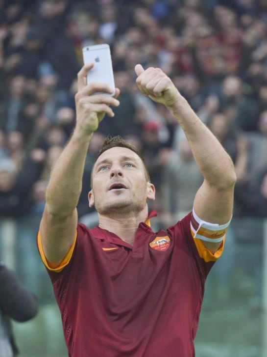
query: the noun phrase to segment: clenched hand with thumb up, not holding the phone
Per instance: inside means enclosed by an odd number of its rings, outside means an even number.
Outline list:
[[[137,64],[135,73],[138,76],[136,83],[145,96],[156,103],[164,104],[169,109],[175,106],[180,93],[160,68],[149,67],[144,70],[141,64]]]

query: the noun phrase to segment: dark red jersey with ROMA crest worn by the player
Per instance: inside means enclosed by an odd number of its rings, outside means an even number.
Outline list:
[[[133,246],[78,224],[70,261],[49,271],[69,356],[194,356],[214,261],[200,258],[190,220],[156,233],[141,222]]]

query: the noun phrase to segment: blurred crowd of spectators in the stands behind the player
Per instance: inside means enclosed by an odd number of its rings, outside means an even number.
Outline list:
[[[236,216],[267,216],[266,0],[0,0],[0,215],[40,215],[51,167],[75,124],[82,48],[108,43],[115,117],[86,159],[78,204],[106,135],[136,144],[169,225],[192,209],[201,176],[168,110],[144,97],[134,66],[160,67],[231,156]],[[212,202],[211,202],[212,204]]]

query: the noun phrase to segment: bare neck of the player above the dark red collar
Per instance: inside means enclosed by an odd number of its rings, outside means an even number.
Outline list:
[[[109,215],[98,213],[99,227],[116,234],[124,242],[133,245],[135,234],[140,222],[145,222],[148,217],[147,206],[141,212],[123,213],[116,212]]]

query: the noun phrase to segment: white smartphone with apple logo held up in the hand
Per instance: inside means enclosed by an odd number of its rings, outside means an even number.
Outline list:
[[[94,67],[88,72],[87,84],[92,82],[107,83],[112,89],[113,93],[96,92],[94,94],[104,93],[107,95],[115,95],[115,82],[111,61],[111,54],[109,45],[103,43],[101,45],[86,46],[82,49],[84,63],[94,62]]]

